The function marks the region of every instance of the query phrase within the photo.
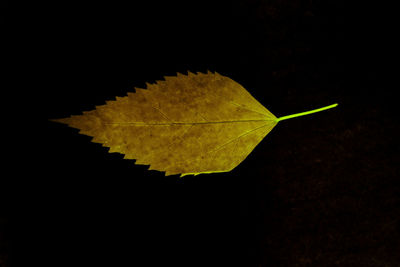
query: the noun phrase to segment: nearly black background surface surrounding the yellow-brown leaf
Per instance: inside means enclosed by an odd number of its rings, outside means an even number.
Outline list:
[[[394,9],[133,2],[6,13],[1,267],[400,266]],[[184,179],[47,121],[187,70],[276,116],[339,106],[278,124],[232,172]]]

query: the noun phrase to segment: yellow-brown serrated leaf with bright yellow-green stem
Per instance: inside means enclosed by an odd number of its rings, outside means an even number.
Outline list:
[[[232,79],[189,72],[53,121],[150,170],[184,176],[231,171],[280,120],[304,114],[276,118]]]

